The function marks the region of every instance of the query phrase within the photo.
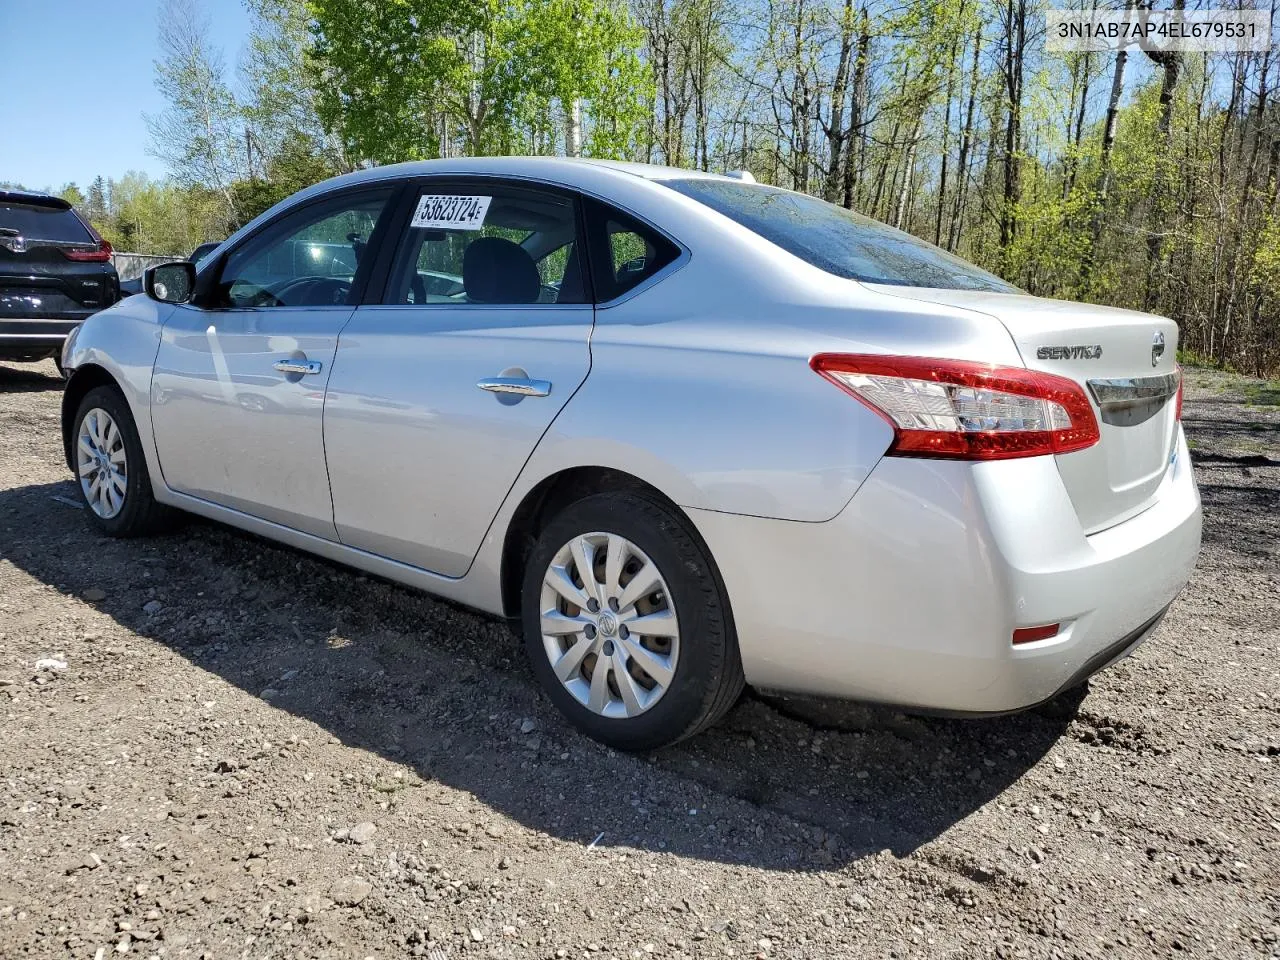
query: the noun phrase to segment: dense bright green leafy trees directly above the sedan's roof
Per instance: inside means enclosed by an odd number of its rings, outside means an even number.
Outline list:
[[[310,0],[317,113],[374,163],[550,152],[584,102],[596,155],[635,147],[643,35],[603,0]]]

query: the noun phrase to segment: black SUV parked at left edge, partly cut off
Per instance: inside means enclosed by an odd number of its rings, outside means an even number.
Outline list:
[[[0,360],[59,361],[67,334],[119,298],[111,244],[70,204],[0,191]]]

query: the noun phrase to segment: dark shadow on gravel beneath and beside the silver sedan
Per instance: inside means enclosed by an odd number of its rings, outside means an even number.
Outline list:
[[[998,797],[1069,726],[1092,735],[1083,691],[984,721],[748,696],[686,744],[620,754],[559,719],[502,623],[200,521],[108,540],[55,495],[74,497],[70,481],[0,490],[0,558],[70,595],[102,590],[96,605],[123,627],[270,708],[584,845],[800,870],[902,856]],[[210,771],[252,782],[261,763],[246,748]],[[993,881],[979,863],[947,867]]]

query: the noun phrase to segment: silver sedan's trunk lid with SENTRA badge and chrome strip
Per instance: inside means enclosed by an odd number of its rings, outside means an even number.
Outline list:
[[[1004,324],[1028,369],[1084,388],[1101,439],[1056,461],[1085,532],[1123,522],[1155,502],[1175,451],[1172,320],[1021,294],[868,285],[987,314]]]

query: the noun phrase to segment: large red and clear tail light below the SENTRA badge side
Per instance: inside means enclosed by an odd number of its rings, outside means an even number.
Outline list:
[[[1010,460],[1098,442],[1089,398],[1065,376],[861,353],[819,353],[809,365],[888,421],[893,456]]]

